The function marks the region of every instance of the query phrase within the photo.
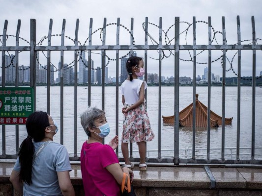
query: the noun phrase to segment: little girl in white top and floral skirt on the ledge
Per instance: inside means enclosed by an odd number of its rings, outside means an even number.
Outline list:
[[[121,149],[125,160],[123,167],[134,168],[128,157],[128,143],[138,144],[141,171],[146,171],[146,143],[154,138],[149,118],[146,112],[145,89],[146,82],[138,79],[144,75],[144,61],[141,57],[131,56],[127,59],[126,70],[128,78],[122,83],[122,113],[124,114]]]

